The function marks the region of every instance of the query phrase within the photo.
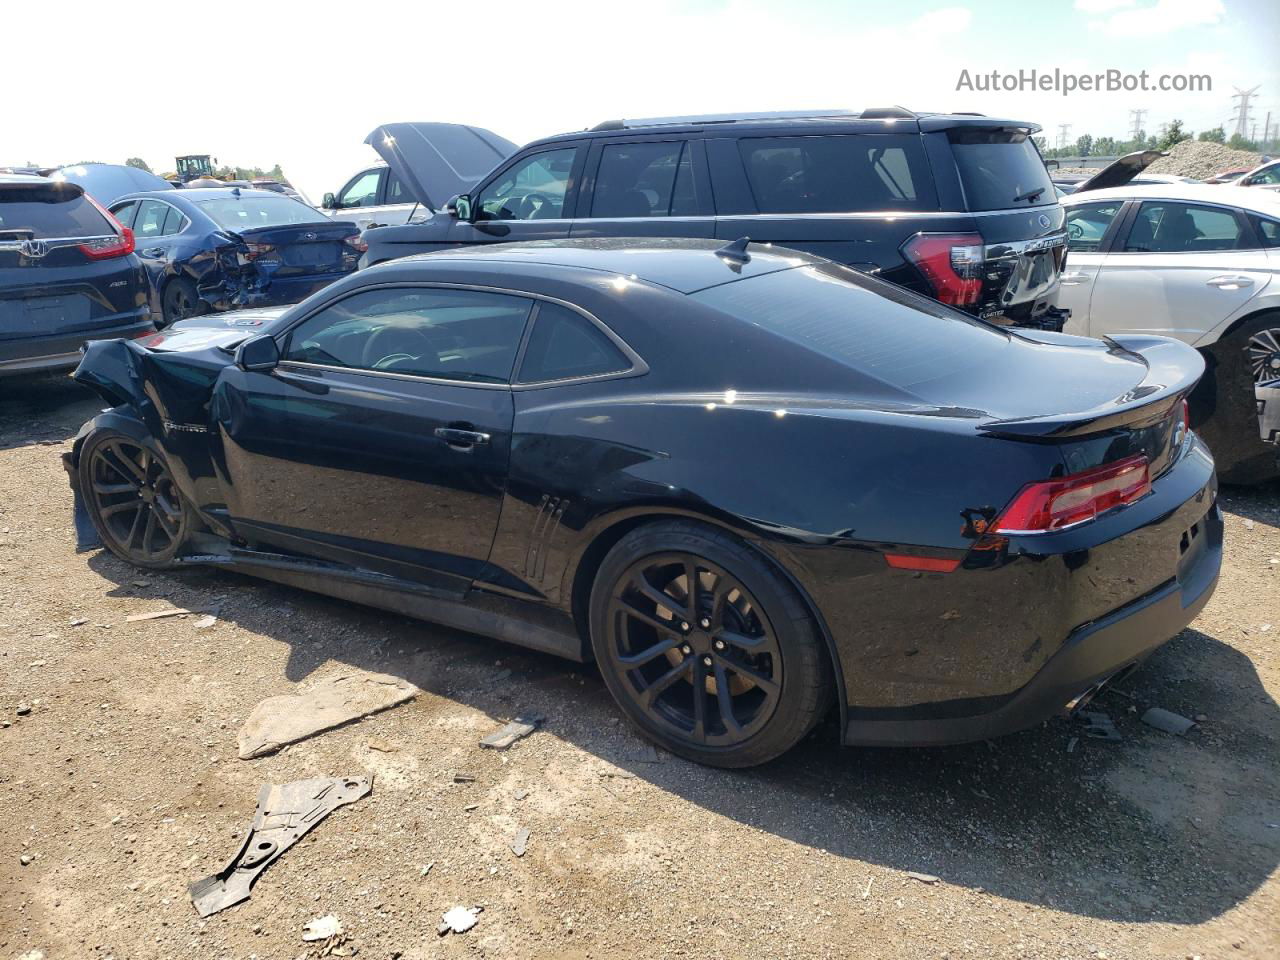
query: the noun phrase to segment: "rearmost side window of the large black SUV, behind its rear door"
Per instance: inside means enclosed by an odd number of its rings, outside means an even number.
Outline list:
[[[938,209],[914,134],[749,137],[739,150],[762,214]]]

